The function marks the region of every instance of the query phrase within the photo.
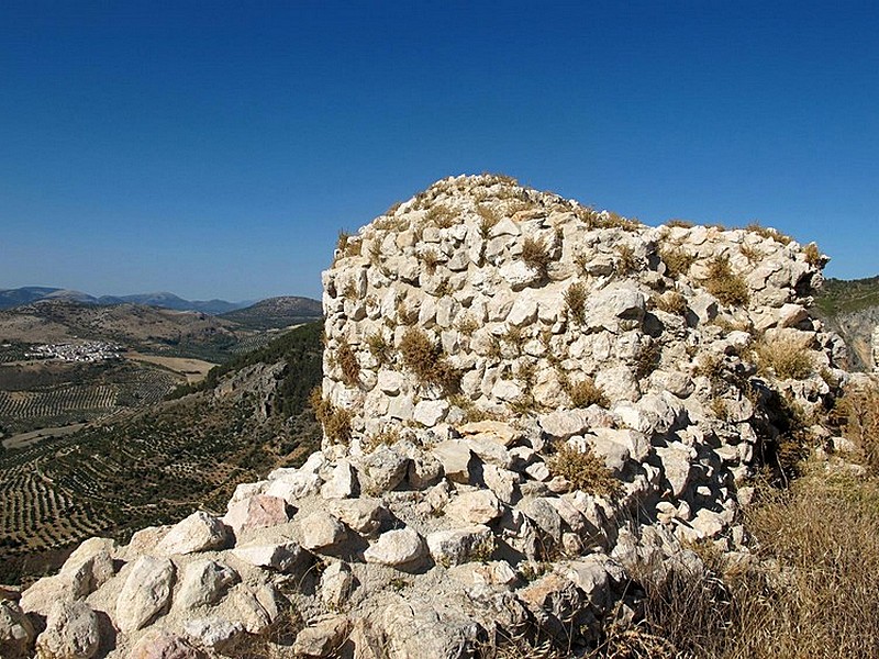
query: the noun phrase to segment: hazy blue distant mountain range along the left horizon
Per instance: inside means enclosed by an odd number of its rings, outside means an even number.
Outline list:
[[[40,286],[0,290],[0,309],[33,304],[42,300],[65,300],[69,302],[79,302],[81,304],[99,304],[103,306],[124,303],[145,304],[147,306],[159,306],[162,309],[173,309],[176,311],[200,311],[212,315],[244,309],[251,306],[255,302],[253,300],[244,302],[226,302],[225,300],[185,300],[179,295],[168,292],[120,297],[101,295],[98,298],[81,291]]]

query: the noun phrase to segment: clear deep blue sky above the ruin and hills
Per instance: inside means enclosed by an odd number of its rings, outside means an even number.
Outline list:
[[[879,273],[875,2],[0,2],[0,288],[319,297],[340,228],[504,172]]]

